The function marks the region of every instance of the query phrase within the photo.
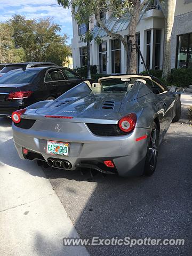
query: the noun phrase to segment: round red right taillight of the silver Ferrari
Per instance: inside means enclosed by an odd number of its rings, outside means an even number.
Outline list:
[[[119,120],[118,126],[123,132],[132,132],[137,121],[137,116],[132,113]]]

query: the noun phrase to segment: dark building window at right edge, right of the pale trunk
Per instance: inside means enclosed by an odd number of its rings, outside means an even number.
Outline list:
[[[175,68],[192,68],[192,34],[178,36]]]

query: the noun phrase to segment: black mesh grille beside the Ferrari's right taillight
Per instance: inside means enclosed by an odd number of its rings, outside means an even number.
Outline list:
[[[98,136],[121,136],[127,132],[121,131],[116,124],[86,124],[90,131]]]

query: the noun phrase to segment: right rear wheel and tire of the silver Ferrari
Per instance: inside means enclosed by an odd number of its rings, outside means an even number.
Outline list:
[[[143,175],[150,176],[155,172],[158,157],[159,131],[157,124],[153,122],[147,147],[146,161]]]

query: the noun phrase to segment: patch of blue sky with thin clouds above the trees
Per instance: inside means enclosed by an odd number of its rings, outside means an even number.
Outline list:
[[[67,34],[68,44],[73,38],[70,9],[63,9],[57,0],[0,0],[0,22],[5,22],[14,14],[25,15],[26,19],[52,17],[61,26],[61,34]]]

